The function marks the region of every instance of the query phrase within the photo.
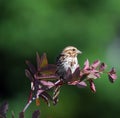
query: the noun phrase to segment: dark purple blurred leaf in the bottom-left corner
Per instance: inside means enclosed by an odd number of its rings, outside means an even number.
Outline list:
[[[0,106],[0,118],[6,118],[6,113],[8,111],[8,103],[4,102],[1,106]]]

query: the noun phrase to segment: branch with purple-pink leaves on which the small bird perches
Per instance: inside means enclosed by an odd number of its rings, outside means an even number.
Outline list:
[[[87,86],[86,81],[88,81],[90,84],[90,89],[93,92],[96,92],[93,80],[100,78],[101,74],[103,74],[103,71],[106,68],[106,64],[100,63],[99,60],[94,61],[93,64],[90,65],[89,60],[87,59],[84,63],[84,67],[81,70],[78,67],[75,72],[72,73],[71,69],[68,68],[64,78],[60,78],[56,74],[56,65],[48,64],[45,53],[41,57],[37,53],[36,61],[37,70],[29,61],[26,62],[30,71],[25,70],[25,74],[31,81],[32,90],[30,99],[28,100],[28,103],[23,111],[28,108],[33,100],[38,100],[39,97],[43,98],[48,106],[50,106],[50,100],[53,101],[53,104],[56,104],[58,102],[58,95],[60,92],[59,88],[63,84],[75,85],[77,87],[83,88]],[[116,80],[116,72],[114,68],[108,72],[108,76],[111,82]],[[56,88],[53,92],[53,97],[51,97],[51,95],[48,94],[48,90],[52,89],[53,87]],[[40,102],[38,101],[38,103]],[[35,111],[32,118],[38,118],[39,114],[39,111]]]

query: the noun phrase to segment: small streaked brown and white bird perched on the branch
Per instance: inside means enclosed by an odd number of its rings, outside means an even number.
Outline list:
[[[65,79],[65,74],[69,68],[71,69],[71,72],[74,73],[79,67],[77,55],[81,53],[82,52],[74,46],[68,46],[63,49],[56,61],[56,74],[61,79]]]

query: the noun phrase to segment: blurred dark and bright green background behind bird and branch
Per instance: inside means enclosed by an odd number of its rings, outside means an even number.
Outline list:
[[[47,53],[49,63],[68,45],[83,54],[79,63],[88,58],[120,70],[120,0],[0,0],[0,104],[9,102],[18,113],[27,102],[30,81],[25,77],[25,60],[35,63],[36,52]],[[25,116],[41,110],[41,118],[119,118],[120,80],[111,84],[107,76],[96,80],[97,93],[89,87],[64,86],[59,103],[35,102]]]

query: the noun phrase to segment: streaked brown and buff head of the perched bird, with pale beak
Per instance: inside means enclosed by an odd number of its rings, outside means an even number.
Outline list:
[[[78,54],[81,54],[81,53],[82,52],[74,46],[67,46],[62,51],[63,55],[68,55],[68,56],[71,56],[71,57],[76,57]]]

